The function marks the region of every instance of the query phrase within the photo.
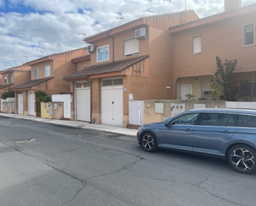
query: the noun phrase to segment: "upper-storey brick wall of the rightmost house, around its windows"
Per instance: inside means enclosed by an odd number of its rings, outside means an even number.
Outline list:
[[[173,34],[173,82],[185,77],[213,76],[217,55],[223,63],[225,59],[238,60],[234,73],[255,71],[255,45],[243,46],[243,25],[253,22],[256,22],[254,14],[249,13]],[[193,55],[193,36],[198,35],[201,53]]]

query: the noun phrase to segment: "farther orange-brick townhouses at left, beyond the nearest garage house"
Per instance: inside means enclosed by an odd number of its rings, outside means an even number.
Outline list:
[[[0,72],[0,95],[12,89],[15,92],[15,113],[40,116],[41,103],[36,99],[35,92],[46,92],[50,97],[52,94],[70,93],[70,83],[64,81],[63,77],[76,71],[71,60],[86,54],[86,48],[70,50],[5,69]]]

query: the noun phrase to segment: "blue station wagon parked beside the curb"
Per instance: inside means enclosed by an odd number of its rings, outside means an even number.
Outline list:
[[[256,110],[192,109],[164,122],[139,127],[138,144],[226,159],[236,171],[256,171]]]

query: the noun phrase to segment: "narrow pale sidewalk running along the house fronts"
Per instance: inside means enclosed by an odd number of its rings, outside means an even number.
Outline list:
[[[58,119],[45,119],[41,117],[33,117],[33,116],[25,116],[22,114],[13,114],[13,113],[0,113],[0,116],[2,117],[12,117],[12,118],[19,118],[19,119],[26,119],[36,122],[46,122],[61,126],[67,126],[67,127],[77,127],[81,129],[94,129],[99,130],[103,132],[111,132],[115,134],[121,134],[121,135],[128,135],[136,137],[136,134],[138,132],[137,129],[128,129],[123,127],[115,127],[111,125],[105,125],[105,124],[90,124],[88,122],[79,122],[79,121],[66,121],[66,120],[58,120]]]

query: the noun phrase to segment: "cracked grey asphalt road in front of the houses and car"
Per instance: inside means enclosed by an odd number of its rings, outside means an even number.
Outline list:
[[[0,116],[1,206],[256,205],[256,174],[135,137]]]

